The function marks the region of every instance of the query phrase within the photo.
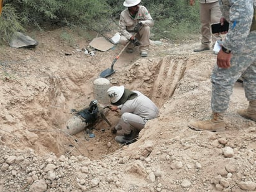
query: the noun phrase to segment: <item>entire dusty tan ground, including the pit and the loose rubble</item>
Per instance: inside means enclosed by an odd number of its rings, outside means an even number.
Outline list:
[[[71,109],[94,99],[93,81],[121,51],[80,52],[89,40],[62,30],[30,32],[35,48],[0,47],[0,191],[256,191],[256,125],[236,109],[247,107],[237,83],[224,132],[186,125],[210,116],[210,75],[216,55],[194,53],[199,39],[150,46],[150,55],[123,53],[107,79],[149,96],[160,108],[139,140],[114,141],[103,120],[89,138],[63,132]],[[105,109],[112,125],[119,114]]]

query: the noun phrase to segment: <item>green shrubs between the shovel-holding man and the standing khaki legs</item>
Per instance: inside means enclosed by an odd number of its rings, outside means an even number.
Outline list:
[[[200,28],[199,6],[188,1],[143,1],[155,21],[152,28],[154,39],[190,39]]]

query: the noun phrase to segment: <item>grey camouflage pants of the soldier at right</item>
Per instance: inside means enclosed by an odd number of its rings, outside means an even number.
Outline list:
[[[256,100],[256,31],[250,32],[244,47],[232,52],[231,67],[224,69],[217,65],[211,75],[213,112],[225,112],[235,81],[242,76],[245,96],[248,101]]]

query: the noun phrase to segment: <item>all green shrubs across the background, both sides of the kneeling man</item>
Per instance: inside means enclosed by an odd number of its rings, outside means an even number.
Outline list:
[[[4,1],[0,17],[0,34],[4,40],[26,26],[37,29],[52,27],[80,27],[103,34],[118,30],[120,13],[126,7],[119,0],[20,0]],[[180,0],[144,0],[142,5],[149,9],[155,21],[152,33],[155,39],[170,40],[190,38],[199,32],[198,2],[191,7]],[[116,25],[113,25],[116,24]]]

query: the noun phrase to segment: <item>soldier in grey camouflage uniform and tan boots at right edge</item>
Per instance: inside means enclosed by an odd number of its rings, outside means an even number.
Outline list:
[[[213,118],[208,121],[190,122],[195,130],[224,130],[224,112],[228,108],[235,81],[244,78],[247,109],[238,114],[256,121],[256,0],[219,0],[222,18],[229,22],[222,49],[217,54],[217,65],[211,76],[211,109]]]

